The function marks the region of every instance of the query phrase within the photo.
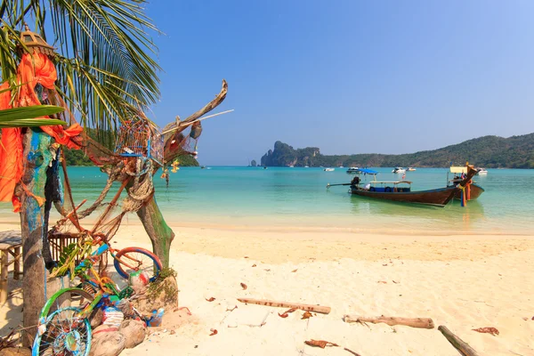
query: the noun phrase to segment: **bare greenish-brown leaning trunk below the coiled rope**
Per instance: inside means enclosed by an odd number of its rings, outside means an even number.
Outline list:
[[[159,257],[164,268],[168,267],[169,250],[174,239],[174,232],[166,224],[154,195],[137,211],[137,216],[149,234],[154,254]]]

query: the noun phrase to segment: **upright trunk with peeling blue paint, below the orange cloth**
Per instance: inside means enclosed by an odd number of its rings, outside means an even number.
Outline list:
[[[44,199],[44,185],[46,183],[46,169],[52,161],[49,150],[51,137],[40,129],[27,129],[23,137],[24,176],[17,192],[20,197],[20,231],[22,234],[23,251],[23,296],[24,312],[22,315],[24,328],[36,326],[38,315],[45,302],[44,296],[44,261],[43,239],[44,204],[39,206],[37,198]],[[30,194],[31,193],[31,194]],[[32,196],[33,195],[33,196]],[[36,328],[29,328],[23,337],[24,346],[29,346]]]

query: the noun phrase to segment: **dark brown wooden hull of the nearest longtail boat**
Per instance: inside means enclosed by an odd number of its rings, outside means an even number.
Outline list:
[[[425,204],[430,206],[446,206],[457,192],[456,187],[447,187],[436,190],[419,190],[408,192],[371,191],[352,186],[354,195],[367,198],[397,201],[401,203]]]

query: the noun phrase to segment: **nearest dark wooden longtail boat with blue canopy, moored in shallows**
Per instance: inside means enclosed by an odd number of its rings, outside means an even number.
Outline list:
[[[356,176],[350,183],[328,184],[327,188],[334,185],[350,185],[351,193],[360,197],[377,198],[391,200],[402,203],[425,204],[430,206],[446,206],[457,192],[465,190],[467,182],[471,181],[476,170],[468,166],[468,173],[462,182],[457,185],[451,185],[445,188],[434,190],[411,190],[409,181],[371,181],[361,182],[360,177]]]

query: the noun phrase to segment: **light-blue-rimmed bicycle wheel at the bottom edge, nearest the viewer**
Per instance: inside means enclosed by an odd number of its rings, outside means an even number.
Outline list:
[[[50,314],[37,329],[32,356],[86,356],[91,350],[91,325],[69,306]]]

